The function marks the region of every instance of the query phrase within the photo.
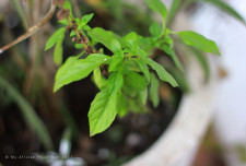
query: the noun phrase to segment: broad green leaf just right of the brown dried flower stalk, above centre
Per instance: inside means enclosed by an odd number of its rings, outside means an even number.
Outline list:
[[[105,31],[101,27],[95,27],[92,31],[90,31],[89,34],[95,42],[103,44],[114,54],[121,51],[121,46],[119,42],[116,39],[113,32]]]

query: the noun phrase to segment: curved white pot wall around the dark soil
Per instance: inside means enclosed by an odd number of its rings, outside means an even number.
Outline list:
[[[177,115],[160,137],[144,153],[124,166],[190,166],[196,151],[206,133],[213,114],[219,79],[212,69],[209,83],[203,83],[201,67],[196,59],[187,69],[191,93],[181,98]]]

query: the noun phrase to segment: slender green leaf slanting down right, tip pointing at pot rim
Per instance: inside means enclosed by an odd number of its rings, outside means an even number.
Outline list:
[[[159,78],[162,81],[168,82],[174,87],[178,86],[178,84],[175,81],[175,79],[161,64],[156,63],[155,61],[153,61],[150,58],[147,59],[147,63],[149,66],[151,66],[151,68],[153,70],[155,70],[155,72],[157,73]]]

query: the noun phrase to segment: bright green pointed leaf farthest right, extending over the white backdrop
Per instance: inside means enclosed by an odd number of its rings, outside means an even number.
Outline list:
[[[189,46],[200,48],[206,52],[220,55],[216,44],[200,34],[191,31],[184,31],[179,32],[178,35],[181,37],[183,42]]]

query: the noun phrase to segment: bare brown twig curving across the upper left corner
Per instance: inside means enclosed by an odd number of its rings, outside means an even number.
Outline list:
[[[57,0],[50,0],[50,1],[51,1],[50,9],[49,9],[49,12],[45,15],[45,17],[40,22],[38,22],[36,25],[30,27],[28,31],[24,35],[20,36],[14,42],[0,48],[0,54],[2,54],[4,50],[9,49],[10,47],[19,44],[20,42],[28,38],[36,32],[38,32],[52,17],[52,15],[56,11],[56,8],[57,8]]]

